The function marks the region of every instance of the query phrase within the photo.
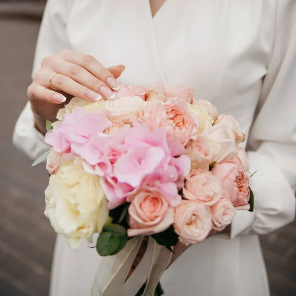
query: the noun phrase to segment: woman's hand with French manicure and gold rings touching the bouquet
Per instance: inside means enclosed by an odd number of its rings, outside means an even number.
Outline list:
[[[55,121],[61,104],[72,97],[91,102],[114,99],[113,90],[119,89],[115,79],[124,69],[123,65],[106,69],[95,58],[70,49],[44,58],[27,92],[37,128],[44,129],[46,119]]]

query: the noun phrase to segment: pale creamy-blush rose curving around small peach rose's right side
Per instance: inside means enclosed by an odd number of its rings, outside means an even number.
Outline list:
[[[235,138],[232,130],[220,124],[208,126],[202,136],[211,139],[220,145],[220,151],[216,154],[214,161],[219,163],[229,160],[237,154]]]

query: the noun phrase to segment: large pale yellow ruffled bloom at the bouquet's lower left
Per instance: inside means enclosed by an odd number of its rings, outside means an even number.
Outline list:
[[[98,176],[86,173],[82,158],[65,161],[49,179],[45,190],[45,216],[57,233],[63,234],[73,250],[82,238],[92,241],[110,222],[107,200]]]

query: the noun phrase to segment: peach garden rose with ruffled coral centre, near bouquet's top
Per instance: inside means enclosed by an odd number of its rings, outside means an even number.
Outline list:
[[[186,103],[180,99],[169,99],[163,106],[169,120],[169,138],[177,138],[181,144],[186,145],[190,136],[196,132],[194,119]]]

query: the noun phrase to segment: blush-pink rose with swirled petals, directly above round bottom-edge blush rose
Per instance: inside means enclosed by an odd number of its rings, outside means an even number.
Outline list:
[[[222,184],[210,171],[192,169],[186,177],[183,195],[186,199],[212,206],[222,196]]]

